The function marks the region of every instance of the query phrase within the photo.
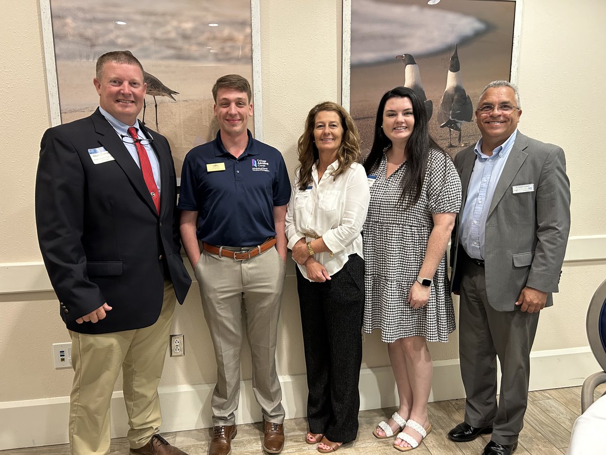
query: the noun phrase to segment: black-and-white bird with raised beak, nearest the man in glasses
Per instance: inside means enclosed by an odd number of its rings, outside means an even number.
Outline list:
[[[457,54],[457,45],[454,44],[454,53],[450,56],[450,66],[446,77],[446,89],[440,101],[438,111],[438,123],[441,128],[448,128],[448,147],[454,147],[451,134],[459,132],[459,144],[461,144],[461,125],[470,122],[473,118],[473,104],[461,77],[461,64]]]

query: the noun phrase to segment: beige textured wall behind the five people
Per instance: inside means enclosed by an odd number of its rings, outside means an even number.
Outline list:
[[[606,36],[599,32],[604,17],[606,2],[602,0],[524,0],[518,77],[524,114],[519,127],[527,135],[559,144],[567,153],[573,190],[571,236],[606,235],[602,207],[606,154],[601,134]],[[282,150],[291,171],[308,109],[319,101],[340,99],[340,39],[341,2],[337,0],[261,2],[264,141]],[[0,263],[37,261],[41,257],[33,187],[39,140],[50,126],[37,1],[10,0],[0,19],[0,43]],[[606,250],[604,244],[601,248]],[[279,331],[282,375],[305,371],[292,272],[291,268]],[[604,277],[604,260],[565,264],[562,291],[555,297],[555,306],[541,315],[535,350],[587,345],[585,309]],[[53,342],[68,341],[54,295],[0,294],[0,314],[4,361],[0,402],[68,395],[72,372],[56,371],[50,356]],[[162,385],[214,382],[215,361],[196,286],[176,312],[174,332],[185,333],[187,355],[167,359]],[[432,344],[434,359],[456,359],[456,338],[455,333],[446,345]],[[248,346],[243,351],[242,376],[248,379]],[[367,336],[364,366],[387,364],[377,334]]]

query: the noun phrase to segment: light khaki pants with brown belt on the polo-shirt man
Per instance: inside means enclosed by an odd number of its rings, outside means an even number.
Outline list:
[[[195,274],[217,362],[213,425],[234,425],[240,392],[242,302],[253,356],[253,392],[267,422],[284,422],[276,337],[286,266],[275,248],[245,261],[202,250]]]

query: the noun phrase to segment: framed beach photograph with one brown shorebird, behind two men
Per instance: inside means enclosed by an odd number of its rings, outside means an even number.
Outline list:
[[[145,70],[139,121],[167,137],[178,181],[185,154],[219,129],[211,94],[219,76],[238,73],[250,81],[255,116],[248,127],[261,138],[259,0],[232,0],[229,7],[147,0],[131,11],[118,0],[40,0],[40,8],[53,126],[96,109],[96,59],[128,50]]]

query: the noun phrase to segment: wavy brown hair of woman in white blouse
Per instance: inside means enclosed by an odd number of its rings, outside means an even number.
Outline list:
[[[313,141],[313,129],[315,126],[316,115],[323,110],[336,112],[341,120],[343,128],[343,137],[341,146],[337,151],[337,160],[339,166],[334,172],[337,178],[350,168],[351,163],[355,163],[360,158],[360,136],[358,128],[351,115],[339,104],[325,101],[312,107],[305,120],[305,132],[299,138],[297,149],[299,152],[299,167],[296,170],[299,177],[299,189],[305,189],[311,183],[311,167],[318,160],[319,152],[316,143]]]

